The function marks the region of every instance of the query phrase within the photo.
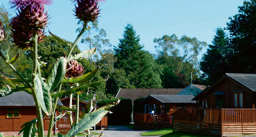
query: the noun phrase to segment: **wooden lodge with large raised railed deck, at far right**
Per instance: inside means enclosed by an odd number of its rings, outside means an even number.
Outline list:
[[[218,136],[256,134],[256,74],[227,73],[192,100],[173,108],[174,130]]]

